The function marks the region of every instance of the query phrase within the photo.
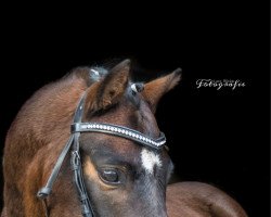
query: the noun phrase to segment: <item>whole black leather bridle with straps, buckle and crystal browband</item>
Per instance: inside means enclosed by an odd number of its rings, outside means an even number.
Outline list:
[[[52,173],[47,181],[47,184],[41,188],[38,191],[37,196],[42,200],[43,206],[47,212],[47,216],[49,216],[49,210],[47,206],[47,197],[50,195],[52,191],[52,187],[54,181],[57,178],[57,175],[60,173],[61,166],[65,159],[65,156],[70,150],[72,156],[70,156],[70,165],[72,170],[74,173],[74,182],[77,188],[77,192],[79,195],[79,200],[81,202],[81,213],[83,217],[94,217],[94,212],[90,203],[89,195],[87,193],[85,181],[83,181],[83,175],[82,175],[82,167],[81,167],[81,159],[80,159],[80,152],[79,152],[79,137],[81,132],[102,132],[102,133],[108,133],[117,137],[122,137],[130,139],[132,141],[138,142],[139,144],[145,145],[150,149],[154,150],[162,150],[165,146],[166,143],[166,137],[163,132],[160,132],[160,136],[158,139],[150,138],[140,131],[113,125],[113,124],[103,124],[103,123],[82,123],[82,114],[83,114],[83,104],[85,104],[85,94],[80,99],[79,104],[76,108],[75,116],[74,116],[74,123],[70,127],[70,137],[65,144],[64,149],[62,150],[53,169]]]

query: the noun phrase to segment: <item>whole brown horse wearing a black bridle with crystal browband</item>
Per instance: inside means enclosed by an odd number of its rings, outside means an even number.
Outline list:
[[[130,65],[77,67],[26,101],[5,139],[2,217],[246,216],[214,187],[168,184],[154,115],[180,69],[141,84]]]

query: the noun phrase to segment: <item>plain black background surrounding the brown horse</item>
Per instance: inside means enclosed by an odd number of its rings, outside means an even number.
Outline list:
[[[136,76],[145,79],[182,67],[180,85],[157,111],[176,175],[219,187],[249,216],[269,216],[268,5],[22,7],[7,8],[1,27],[2,148],[23,103],[73,67],[130,58]],[[201,78],[246,86],[197,89]]]

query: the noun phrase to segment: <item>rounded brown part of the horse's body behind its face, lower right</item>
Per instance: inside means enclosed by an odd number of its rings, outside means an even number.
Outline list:
[[[219,188],[208,183],[188,181],[167,187],[167,207],[172,217],[209,216],[246,217],[240,204]],[[178,212],[179,213],[178,213]],[[177,214],[177,213],[178,214]]]

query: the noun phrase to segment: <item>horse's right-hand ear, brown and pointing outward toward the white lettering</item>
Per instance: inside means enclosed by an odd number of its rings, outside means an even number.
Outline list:
[[[145,100],[150,103],[152,111],[155,113],[157,103],[160,98],[171,90],[181,79],[181,68],[177,68],[171,74],[157,78],[145,84],[142,92]]]

